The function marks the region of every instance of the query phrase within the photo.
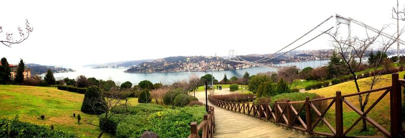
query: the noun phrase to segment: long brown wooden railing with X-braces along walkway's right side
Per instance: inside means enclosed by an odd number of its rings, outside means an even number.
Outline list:
[[[404,78],[405,79],[405,78]],[[368,123],[375,126],[381,133],[386,137],[399,137],[404,136],[404,130],[402,129],[401,122],[401,85],[405,87],[405,80],[398,79],[398,74],[392,74],[392,86],[374,89],[370,91],[364,91],[360,93],[353,93],[348,95],[341,95],[340,91],[336,92],[335,97],[321,98],[310,100],[309,97],[305,98],[305,101],[287,101],[279,102],[274,101],[273,103],[250,103],[250,102],[225,102],[216,100],[209,96],[209,100],[212,104],[219,107],[247,114],[250,116],[255,116],[260,119],[268,120],[279,125],[294,128],[300,131],[304,131],[311,134],[341,137],[346,136],[346,134],[352,130],[352,128],[362,119],[367,120]],[[359,96],[364,94],[371,94],[375,92],[384,91],[378,99],[368,108],[365,112],[355,107],[349,100],[348,97]],[[387,130],[381,124],[373,120],[368,113],[386,96],[390,93],[390,129]],[[357,97],[356,97],[357,98]],[[324,110],[319,110],[316,107],[316,102],[329,102],[328,106]],[[351,110],[359,114],[359,118],[347,129],[343,128],[343,103],[346,104]],[[335,126],[325,118],[328,110],[335,104]],[[298,107],[298,108],[297,108]],[[298,110],[297,110],[297,109]],[[305,118],[301,118],[300,113],[303,114],[305,111]],[[313,118],[315,118],[313,120]],[[305,120],[303,120],[305,119]],[[331,132],[320,132],[315,131],[314,128],[318,123],[322,121]],[[388,121],[388,120],[387,120]]]

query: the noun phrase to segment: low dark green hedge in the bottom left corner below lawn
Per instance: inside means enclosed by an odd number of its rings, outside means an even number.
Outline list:
[[[78,137],[74,133],[19,121],[18,117],[0,119],[0,128],[0,137]]]

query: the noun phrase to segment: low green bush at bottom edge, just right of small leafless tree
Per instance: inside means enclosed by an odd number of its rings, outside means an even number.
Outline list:
[[[115,136],[128,137],[134,131],[139,131],[140,128],[147,124],[148,118],[146,115],[128,115],[116,126]]]

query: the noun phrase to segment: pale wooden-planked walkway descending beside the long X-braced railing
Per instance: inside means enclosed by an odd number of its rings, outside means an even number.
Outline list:
[[[215,90],[215,94],[230,94],[229,88]],[[240,92],[236,92],[240,93]],[[195,93],[200,102],[205,103],[205,92]],[[301,131],[288,129],[275,123],[264,121],[246,114],[235,113],[215,106],[214,137],[310,137]]]

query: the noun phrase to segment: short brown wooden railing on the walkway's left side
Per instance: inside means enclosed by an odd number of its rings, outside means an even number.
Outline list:
[[[201,137],[214,137],[214,128],[215,128],[215,115],[214,107],[209,106],[208,114],[204,115],[204,120],[197,125],[197,122],[190,123],[191,134],[189,138],[199,138],[198,132],[203,129],[203,135]]]

